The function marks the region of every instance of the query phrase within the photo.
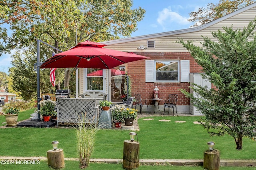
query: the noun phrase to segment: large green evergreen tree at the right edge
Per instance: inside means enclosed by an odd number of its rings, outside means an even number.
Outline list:
[[[203,37],[202,47],[192,41],[180,40],[202,66],[202,74],[214,88],[194,84],[193,96],[181,90],[205,115],[202,125],[214,135],[231,135],[236,149],[242,149],[242,139],[256,136],[256,18],[243,30],[224,27],[224,32],[212,32],[218,41]]]

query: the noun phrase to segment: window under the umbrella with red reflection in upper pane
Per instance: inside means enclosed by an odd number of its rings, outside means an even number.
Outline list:
[[[103,91],[103,69],[87,69],[86,91]]]

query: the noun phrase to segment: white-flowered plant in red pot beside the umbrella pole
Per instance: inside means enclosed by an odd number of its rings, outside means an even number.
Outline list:
[[[56,114],[55,107],[56,107],[55,101],[52,101],[50,99],[43,100],[40,102],[39,113],[40,115],[43,116],[43,119],[45,122],[50,121],[50,116]]]

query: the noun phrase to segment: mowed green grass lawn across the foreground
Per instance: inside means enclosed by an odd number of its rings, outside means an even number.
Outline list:
[[[20,113],[19,119],[27,119],[34,109]],[[22,116],[21,116],[22,115]],[[23,118],[22,118],[23,117]],[[0,116],[1,120],[2,116]],[[148,117],[150,118],[150,117]],[[256,142],[244,138],[243,149],[236,150],[234,139],[230,136],[210,137],[202,125],[194,124],[200,117],[151,117],[154,120],[138,120],[140,131],[140,159],[203,159],[203,152],[207,150],[207,142],[214,141],[220,150],[220,159],[255,159]],[[170,122],[160,122],[168,119]],[[175,123],[186,121],[186,123]],[[123,141],[128,140],[130,130],[101,129],[96,134],[95,149],[91,158],[116,158],[122,160]],[[44,156],[52,149],[51,142],[58,140],[59,148],[64,150],[66,158],[78,158],[76,153],[76,133],[74,128],[0,128],[0,156]],[[42,163],[41,163],[42,162]],[[47,162],[40,165],[8,165],[4,169],[45,169]],[[79,168],[77,161],[65,161],[66,168]],[[44,165],[45,164],[45,165]],[[23,167],[24,166],[24,167]],[[106,168],[102,168],[105,167]],[[12,167],[12,168],[11,168]],[[22,168],[21,168],[22,167]],[[170,166],[140,166],[139,169],[170,169]],[[88,169],[122,169],[121,164],[90,164]],[[180,169],[179,167],[171,167]],[[232,167],[222,167],[231,170]],[[255,168],[255,167],[254,167]],[[0,165],[0,169],[1,165]],[[50,168],[49,168],[50,169]],[[70,168],[71,169],[71,168]],[[184,170],[197,170],[202,167],[182,167]],[[233,168],[234,169],[234,168]],[[253,169],[250,167],[238,168]]]

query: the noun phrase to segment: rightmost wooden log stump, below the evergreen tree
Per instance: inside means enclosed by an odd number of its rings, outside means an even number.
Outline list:
[[[218,150],[206,150],[204,152],[204,168],[206,170],[220,169],[220,152]]]

